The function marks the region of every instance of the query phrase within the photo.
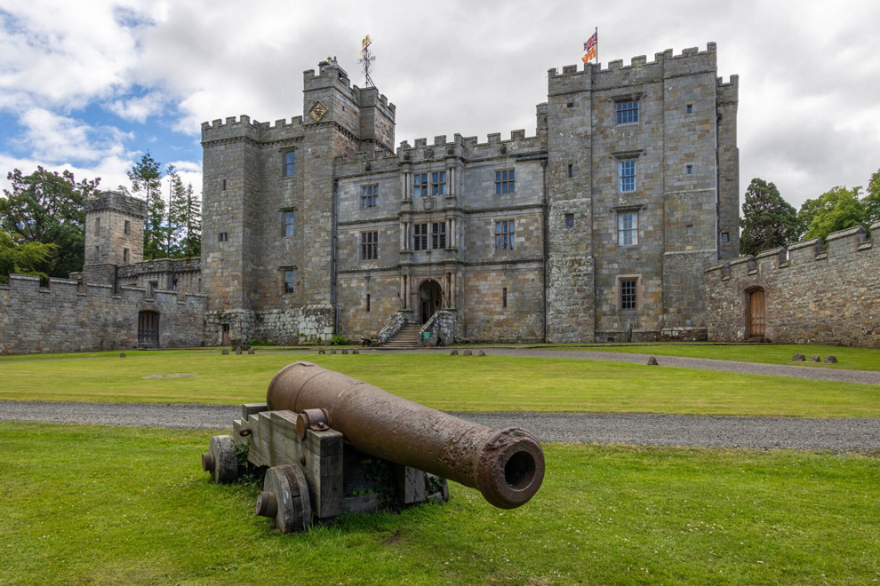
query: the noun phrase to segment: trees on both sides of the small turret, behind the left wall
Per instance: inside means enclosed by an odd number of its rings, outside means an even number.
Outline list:
[[[169,179],[169,204],[161,194]],[[202,249],[202,202],[192,184],[184,185],[173,165],[163,174],[161,163],[147,152],[128,171],[131,188],[117,191],[147,199],[144,258],[197,257]],[[15,169],[6,176],[12,189],[0,198],[0,283],[10,273],[30,274],[46,281],[66,278],[83,269],[85,202],[98,193],[100,178],[76,181],[73,173],[37,166],[29,175]]]

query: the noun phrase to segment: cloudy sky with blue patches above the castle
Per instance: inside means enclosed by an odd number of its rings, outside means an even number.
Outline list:
[[[429,9],[428,9],[429,7]],[[302,71],[360,41],[397,106],[396,139],[524,128],[547,70],[718,44],[740,75],[740,189],[773,181],[796,206],[880,168],[880,2],[543,0],[0,0],[0,186],[37,164],[127,183],[150,150],[201,186],[200,123],[302,114]]]

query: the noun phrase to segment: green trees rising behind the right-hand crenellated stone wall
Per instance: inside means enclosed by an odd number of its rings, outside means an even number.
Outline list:
[[[832,187],[804,202],[800,210],[786,202],[775,185],[754,178],[742,204],[740,254],[755,255],[803,239],[824,240],[828,234],[855,226],[868,230],[877,220],[880,220],[880,170],[868,181],[867,193],[862,194],[862,186]]]

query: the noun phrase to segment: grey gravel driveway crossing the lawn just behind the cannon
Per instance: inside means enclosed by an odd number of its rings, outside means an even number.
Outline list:
[[[567,352],[566,352],[567,353]],[[595,413],[455,413],[491,427],[524,427],[541,441],[660,446],[880,449],[880,419],[678,416]],[[227,429],[233,405],[0,401],[0,419],[53,423]]]

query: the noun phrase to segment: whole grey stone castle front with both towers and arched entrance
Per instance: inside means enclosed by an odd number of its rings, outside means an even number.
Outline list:
[[[716,73],[715,44],[552,69],[535,136],[395,152],[394,105],[332,60],[305,73],[302,116],[204,123],[209,339],[223,324],[278,343],[376,338],[440,308],[471,341],[705,337],[695,283],[739,253],[737,78]],[[624,102],[636,120],[619,121]],[[636,238],[621,246],[624,211]],[[621,280],[636,281],[631,309]]]

